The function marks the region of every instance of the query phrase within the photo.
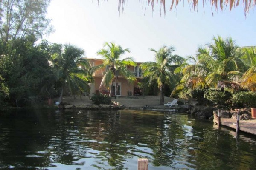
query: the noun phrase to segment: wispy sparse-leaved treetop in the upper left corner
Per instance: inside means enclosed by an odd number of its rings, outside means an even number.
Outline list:
[[[50,0],[1,0],[0,36],[3,43],[16,38],[33,37],[33,41],[52,32],[46,19]],[[31,39],[32,40],[32,39]]]

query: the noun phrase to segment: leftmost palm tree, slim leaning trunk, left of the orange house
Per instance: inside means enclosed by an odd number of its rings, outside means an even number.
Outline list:
[[[61,87],[61,94],[58,102],[61,102],[64,88],[70,91],[70,94],[76,92],[88,91],[90,88],[88,81],[92,80],[90,73],[85,69],[78,68],[78,64],[89,68],[87,59],[82,58],[84,51],[73,45],[64,45],[61,54],[55,53],[52,59],[53,70],[57,84]]]

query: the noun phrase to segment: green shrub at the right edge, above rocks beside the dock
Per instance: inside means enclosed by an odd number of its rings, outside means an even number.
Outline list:
[[[240,91],[233,94],[233,105],[244,108],[255,108],[256,93],[252,91]]]

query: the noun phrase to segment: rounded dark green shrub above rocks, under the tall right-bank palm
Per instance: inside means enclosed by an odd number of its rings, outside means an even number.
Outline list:
[[[220,91],[215,89],[208,89],[204,92],[204,98],[210,102],[218,105],[228,105],[230,104],[230,99],[232,95],[229,91]]]

